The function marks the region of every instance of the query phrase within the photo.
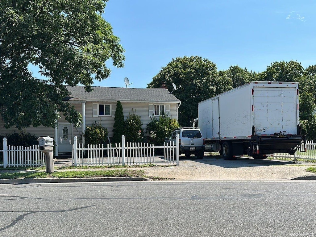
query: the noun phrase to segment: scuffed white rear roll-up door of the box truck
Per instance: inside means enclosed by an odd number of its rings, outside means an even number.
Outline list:
[[[257,135],[296,134],[296,88],[254,87],[253,115]]]

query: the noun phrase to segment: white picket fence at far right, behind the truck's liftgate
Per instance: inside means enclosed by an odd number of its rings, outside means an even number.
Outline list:
[[[294,155],[289,155],[288,153],[278,153],[271,155],[272,158],[278,159],[297,159],[303,160],[316,160],[316,143],[314,141],[306,141],[305,143],[306,152],[301,152],[297,150]],[[301,145],[301,150],[304,150],[304,144]]]

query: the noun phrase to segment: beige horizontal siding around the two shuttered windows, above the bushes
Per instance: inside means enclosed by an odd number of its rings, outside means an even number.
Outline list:
[[[113,136],[113,125],[114,125],[114,117],[111,116],[92,116],[92,104],[100,103],[100,104],[116,104],[115,102],[87,102],[86,103],[86,126],[92,125],[93,121],[101,122],[102,126],[108,129],[108,136]],[[123,107],[124,119],[127,118],[129,113],[132,113],[132,109],[134,113],[141,116],[141,120],[143,122],[143,129],[146,130],[146,125],[151,121],[149,117],[149,104],[168,104],[170,105],[170,114],[172,118],[178,119],[177,117],[177,103],[141,103],[141,102],[121,102]]]

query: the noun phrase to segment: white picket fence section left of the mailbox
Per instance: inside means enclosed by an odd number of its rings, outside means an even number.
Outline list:
[[[5,167],[44,166],[44,154],[38,146],[7,146],[7,138],[3,138],[3,164]]]

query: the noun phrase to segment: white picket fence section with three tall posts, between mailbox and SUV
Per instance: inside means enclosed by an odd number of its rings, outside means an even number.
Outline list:
[[[121,145],[122,144],[122,145]],[[162,156],[155,155],[155,151],[163,151]],[[140,165],[149,163],[164,163],[179,165],[179,135],[176,144],[164,144],[154,146],[145,143],[125,143],[125,136],[122,136],[122,143],[103,145],[78,144],[77,137],[74,137],[72,149],[72,163],[78,165]]]

